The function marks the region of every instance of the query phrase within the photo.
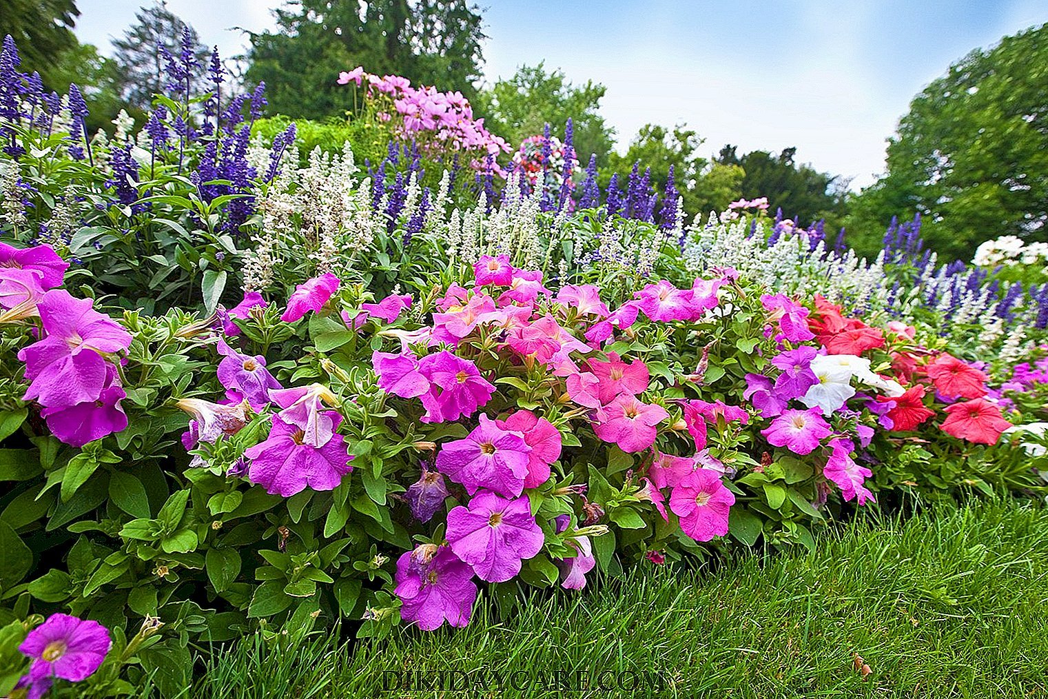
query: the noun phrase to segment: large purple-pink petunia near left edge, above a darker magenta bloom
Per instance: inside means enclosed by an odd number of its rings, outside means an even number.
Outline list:
[[[75,299],[65,289],[40,298],[45,336],[18,353],[31,381],[24,400],[63,408],[99,398],[108,376],[102,354],[126,350],[131,334],[91,305],[90,299]]]

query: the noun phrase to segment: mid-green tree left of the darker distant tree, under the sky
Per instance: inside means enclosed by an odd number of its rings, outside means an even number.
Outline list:
[[[613,173],[618,174],[619,182],[625,182],[633,163],[639,162],[641,171],[651,170],[652,184],[661,195],[673,167],[674,183],[689,217],[723,211],[733,199],[739,198],[744,173],[738,165],[712,162],[702,157],[699,148],[703,143],[695,131],[682,125],[668,129],[646,124],[625,154],[609,154],[607,166],[601,169],[601,184],[607,187]]]

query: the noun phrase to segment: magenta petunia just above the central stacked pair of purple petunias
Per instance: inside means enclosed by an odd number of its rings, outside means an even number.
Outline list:
[[[430,390],[422,394],[422,407],[425,408],[422,422],[470,417],[495,393],[495,386],[480,375],[477,365],[447,350],[428,354],[418,365],[430,381]]]

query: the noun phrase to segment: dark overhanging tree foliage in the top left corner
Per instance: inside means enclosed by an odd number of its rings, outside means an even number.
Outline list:
[[[0,39],[10,35],[22,58],[20,70],[37,71],[49,84],[51,64],[77,45],[72,27],[79,16],[74,0],[4,0]]]

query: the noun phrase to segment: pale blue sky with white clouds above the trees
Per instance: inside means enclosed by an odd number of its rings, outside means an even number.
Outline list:
[[[148,0],[79,0],[77,34],[111,51]],[[280,0],[169,0],[242,53]],[[851,177],[883,171],[887,138],[915,94],[976,47],[1048,22],[1044,0],[480,0],[484,78],[544,61],[607,87],[601,113],[619,148],[648,123],[686,125],[709,157],[795,147],[795,159]],[[332,66],[332,77],[352,66]],[[365,66],[367,68],[367,66]],[[454,89],[455,86],[438,86]]]

